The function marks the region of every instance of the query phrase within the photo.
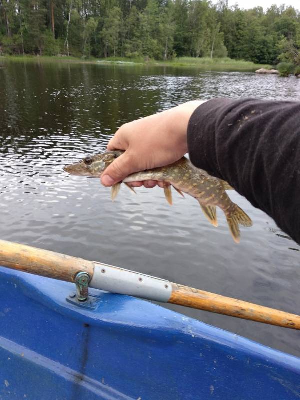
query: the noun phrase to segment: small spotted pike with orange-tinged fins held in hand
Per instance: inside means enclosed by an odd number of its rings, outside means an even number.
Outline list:
[[[72,175],[99,178],[103,171],[121,154],[123,154],[123,151],[115,150],[88,155],[80,162],[66,165],[63,169]],[[210,176],[203,169],[196,168],[186,157],[182,157],[170,165],[132,173],[123,179],[122,182],[130,190],[134,191],[128,183],[143,180],[164,182],[164,193],[169,204],[172,204],[171,186],[182,196],[182,192],[184,192],[194,197],[199,202],[204,215],[213,226],[218,226],[216,207],[219,207],[227,218],[229,230],[236,243],[239,243],[240,240],[239,224],[252,226],[249,216],[237,204],[233,203],[227,195],[226,190],[230,190],[232,187],[224,180]],[[118,194],[122,182],[112,186],[112,200]]]

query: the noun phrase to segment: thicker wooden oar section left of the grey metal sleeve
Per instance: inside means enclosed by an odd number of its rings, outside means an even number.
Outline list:
[[[5,240],[0,240],[0,265],[68,282],[75,282],[78,272],[92,278],[94,271],[92,261]]]

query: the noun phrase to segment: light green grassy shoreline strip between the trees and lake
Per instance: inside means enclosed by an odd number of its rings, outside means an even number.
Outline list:
[[[230,58],[192,58],[178,57],[170,61],[145,60],[140,58],[109,57],[105,59],[98,58],[76,58],[67,56],[34,56],[34,55],[3,55],[0,60],[18,61],[18,62],[69,62],[80,64],[102,64],[102,65],[140,65],[140,66],[167,66],[167,67],[185,67],[198,68],[201,70],[215,71],[255,71],[259,68],[271,68],[270,65],[255,64],[250,61],[235,60]]]

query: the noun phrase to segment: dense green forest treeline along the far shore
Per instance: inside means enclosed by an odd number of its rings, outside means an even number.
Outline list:
[[[0,0],[0,54],[300,65],[300,13],[206,0]]]

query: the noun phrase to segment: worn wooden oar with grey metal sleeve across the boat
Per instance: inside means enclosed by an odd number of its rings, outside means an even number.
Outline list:
[[[90,278],[89,286],[100,290],[300,329],[299,315],[182,286],[127,269],[4,240],[0,240],[0,265],[69,282],[75,282],[77,274],[85,272]]]

